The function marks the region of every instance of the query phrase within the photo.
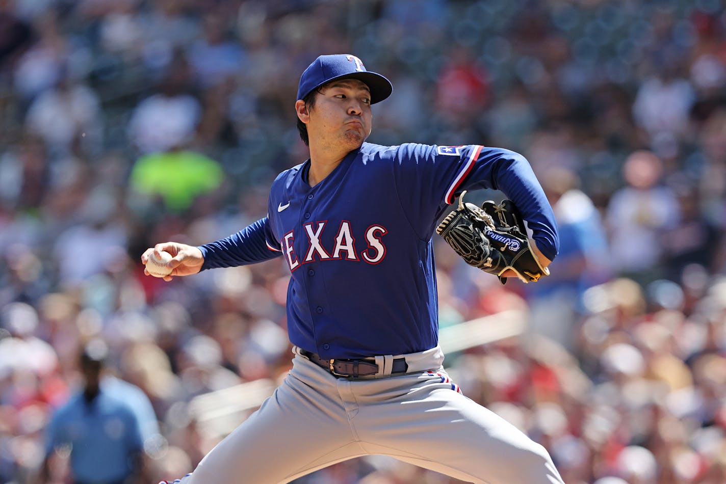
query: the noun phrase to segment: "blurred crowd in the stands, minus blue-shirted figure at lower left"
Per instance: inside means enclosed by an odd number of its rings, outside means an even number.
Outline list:
[[[284,376],[281,259],[166,283],[139,256],[264,216],[307,157],[299,75],[343,52],[393,81],[370,141],[513,149],[555,208],[537,284],[435,237],[442,331],[524,325],[452,347],[463,392],[568,484],[725,483],[719,0],[0,0],[0,482],[36,475],[91,340],[152,403],[144,482],[191,471]],[[63,482],[68,449],[49,460]],[[296,482],[455,481],[356,459]]]

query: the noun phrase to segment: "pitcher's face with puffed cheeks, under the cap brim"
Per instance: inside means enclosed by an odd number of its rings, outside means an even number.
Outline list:
[[[346,152],[356,149],[372,129],[368,86],[357,79],[333,81],[317,94],[309,114],[311,143],[335,144]]]

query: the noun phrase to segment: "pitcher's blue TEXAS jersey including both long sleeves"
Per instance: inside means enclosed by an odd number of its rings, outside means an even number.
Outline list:
[[[313,187],[309,165],[277,176],[265,218],[200,249],[203,269],[285,258],[290,342],[323,358],[438,344],[432,235],[465,189],[502,191],[542,253],[557,254],[542,187],[527,160],[507,149],[364,143]]]

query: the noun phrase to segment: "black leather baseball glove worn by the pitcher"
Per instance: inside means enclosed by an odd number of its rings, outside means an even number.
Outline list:
[[[511,200],[497,205],[487,200],[478,208],[459,197],[459,208],[449,213],[436,233],[453,247],[466,263],[499,277],[512,269],[523,282],[550,275],[531,250],[524,221]]]

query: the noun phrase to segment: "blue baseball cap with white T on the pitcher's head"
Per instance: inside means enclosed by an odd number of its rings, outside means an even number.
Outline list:
[[[391,81],[366,70],[358,57],[351,54],[321,55],[300,76],[298,99],[304,99],[327,82],[342,78],[359,79],[366,83],[370,89],[370,104],[383,101],[393,91]]]

